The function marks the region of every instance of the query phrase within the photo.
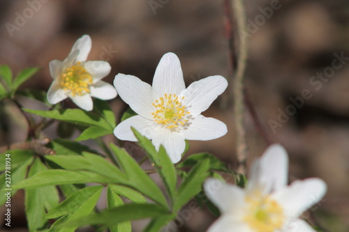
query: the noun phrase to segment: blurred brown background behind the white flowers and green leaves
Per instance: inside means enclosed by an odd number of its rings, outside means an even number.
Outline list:
[[[312,210],[318,224],[327,231],[349,231],[349,2],[245,3],[248,35],[244,36],[251,39],[246,89],[262,130],[288,150],[290,180],[318,176],[327,182],[329,190],[318,204],[320,209]],[[48,63],[65,59],[83,34],[93,42],[89,60],[112,65],[106,82],[112,83],[121,72],[151,83],[166,52],[179,56],[187,85],[210,75],[232,79],[223,0],[1,0],[0,22],[0,64],[8,64],[14,73],[28,66],[43,68],[23,88],[46,91],[52,82]],[[227,99],[227,104],[219,104]],[[191,141],[189,154],[207,150],[236,167],[232,102],[227,91],[204,112],[225,122],[228,134],[209,142]],[[22,99],[22,103],[41,109],[37,102]],[[65,104],[75,107],[69,101]],[[124,103],[117,98],[110,104],[119,116]],[[4,120],[1,115],[2,124]],[[0,145],[25,139],[26,125],[16,113],[6,123]],[[246,127],[252,160],[267,143],[249,114]],[[54,130],[50,127],[48,136],[57,136]],[[193,212],[178,231],[205,231],[212,220],[205,211]]]

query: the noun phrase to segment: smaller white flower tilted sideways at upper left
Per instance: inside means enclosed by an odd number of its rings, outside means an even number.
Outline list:
[[[84,35],[75,42],[63,62],[50,62],[54,81],[47,92],[47,100],[51,104],[70,98],[78,107],[91,111],[94,108],[91,97],[110,100],[117,96],[111,84],[101,81],[109,74],[110,64],[105,61],[86,61],[91,45],[91,38]]]

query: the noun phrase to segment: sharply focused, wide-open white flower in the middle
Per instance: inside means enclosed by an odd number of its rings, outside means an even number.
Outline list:
[[[201,115],[225,91],[227,80],[212,76],[186,88],[181,63],[173,53],[161,58],[152,86],[138,77],[124,74],[115,77],[114,86],[120,98],[138,114],[117,125],[115,136],[137,141],[131,130],[135,127],[152,139],[157,150],[162,144],[173,163],[181,160],[185,139],[210,140],[227,133],[224,123]]]

